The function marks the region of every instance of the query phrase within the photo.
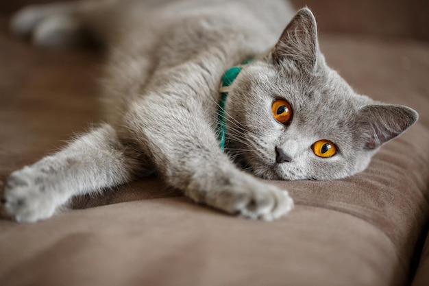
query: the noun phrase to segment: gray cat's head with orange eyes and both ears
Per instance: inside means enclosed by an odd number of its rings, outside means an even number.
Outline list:
[[[283,180],[334,180],[363,171],[382,144],[418,117],[406,106],[356,94],[330,69],[307,8],[268,56],[241,71],[225,110],[228,152],[254,174]]]

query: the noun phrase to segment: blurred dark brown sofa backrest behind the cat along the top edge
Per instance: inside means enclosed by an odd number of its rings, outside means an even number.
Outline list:
[[[262,0],[261,0],[262,1]],[[0,13],[10,14],[30,3],[52,0],[1,0]],[[429,40],[429,0],[292,0],[308,5],[319,31],[347,32],[389,38]]]

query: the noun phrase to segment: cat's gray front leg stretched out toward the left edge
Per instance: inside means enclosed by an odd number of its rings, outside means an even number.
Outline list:
[[[51,217],[74,195],[94,193],[134,178],[144,169],[133,150],[107,124],[64,150],[14,171],[5,184],[3,206],[18,222]]]

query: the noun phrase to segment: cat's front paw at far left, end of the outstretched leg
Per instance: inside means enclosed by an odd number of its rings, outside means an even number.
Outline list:
[[[37,222],[56,211],[56,198],[47,193],[43,178],[31,167],[14,171],[5,184],[1,202],[5,212],[16,222]]]

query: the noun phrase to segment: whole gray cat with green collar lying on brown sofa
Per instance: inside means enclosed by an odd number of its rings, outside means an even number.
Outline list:
[[[14,171],[4,190],[8,215],[47,219],[74,195],[155,170],[195,202],[271,220],[291,211],[293,200],[249,173],[334,180],[363,171],[417,112],[356,94],[326,65],[310,10],[293,14],[284,0],[83,1],[21,10],[12,29],[36,45],[73,45],[89,30],[110,47],[106,123]]]

